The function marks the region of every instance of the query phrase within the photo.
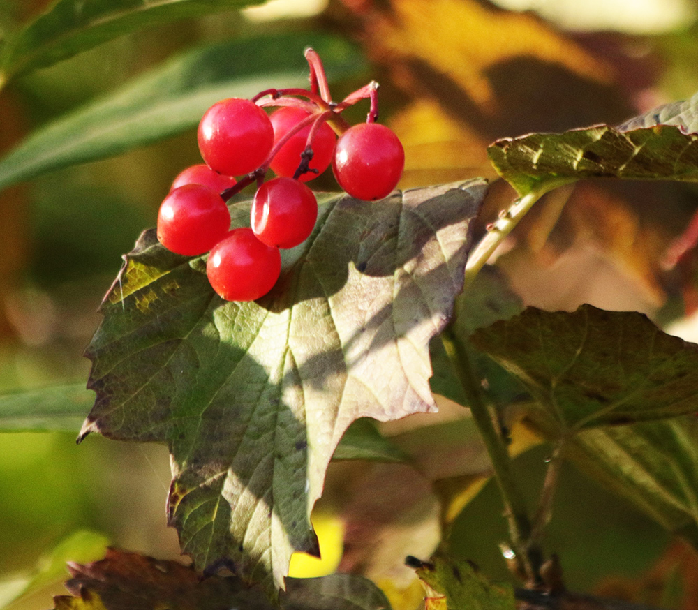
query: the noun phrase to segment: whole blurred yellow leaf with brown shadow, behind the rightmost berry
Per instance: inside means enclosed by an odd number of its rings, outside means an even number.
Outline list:
[[[611,61],[534,15],[477,0],[366,4],[354,7],[366,54],[408,98],[390,121],[406,149],[403,186],[491,177],[483,148],[496,137],[630,112],[611,91]]]

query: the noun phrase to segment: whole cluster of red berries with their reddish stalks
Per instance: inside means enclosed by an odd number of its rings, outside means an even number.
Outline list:
[[[293,248],[311,235],[318,202],[304,182],[332,164],[347,193],[377,200],[402,174],[402,144],[375,122],[378,85],[371,82],[333,103],[320,58],[308,49],[306,59],[311,89],[270,89],[251,100],[220,101],[205,112],[198,144],[206,163],[174,179],[158,213],[158,239],[165,248],[188,256],[210,251],[209,282],[228,301],[266,295],[281,273],[279,248]],[[371,101],[366,123],[349,126],[341,112],[366,98]],[[269,115],[268,106],[278,110]],[[269,169],[276,177],[265,181]],[[230,230],[225,202],[253,182],[258,188],[251,227]]]

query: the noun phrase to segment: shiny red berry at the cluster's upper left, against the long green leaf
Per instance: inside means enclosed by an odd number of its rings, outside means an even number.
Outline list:
[[[199,123],[199,151],[209,167],[226,176],[256,170],[274,144],[267,113],[250,100],[229,98],[212,105]]]

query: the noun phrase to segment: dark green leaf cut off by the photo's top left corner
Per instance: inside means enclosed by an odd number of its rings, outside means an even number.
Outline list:
[[[235,10],[262,0],[57,0],[0,51],[0,82],[143,27]]]

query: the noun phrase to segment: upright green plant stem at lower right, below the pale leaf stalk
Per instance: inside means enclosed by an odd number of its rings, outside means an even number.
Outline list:
[[[517,554],[517,562],[521,567],[521,572],[526,574],[530,583],[540,585],[542,582],[540,577],[542,553],[533,545],[533,525],[514,473],[512,473],[512,461],[498,429],[499,426],[495,424],[491,412],[484,402],[480,391],[480,382],[473,373],[470,357],[463,347],[463,343],[454,336],[451,327],[448,327],[441,334],[441,339],[447,355],[454,364],[456,376],[461,382],[466,399],[468,399],[473,421],[480,432],[480,437],[491,460],[494,478],[499,486],[505,516],[509,523],[512,546]]]

